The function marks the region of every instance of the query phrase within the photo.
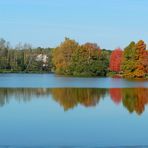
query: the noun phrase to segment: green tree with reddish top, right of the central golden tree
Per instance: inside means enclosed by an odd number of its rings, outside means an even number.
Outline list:
[[[71,73],[74,76],[98,76],[101,68],[101,50],[97,44],[79,46],[72,56]]]

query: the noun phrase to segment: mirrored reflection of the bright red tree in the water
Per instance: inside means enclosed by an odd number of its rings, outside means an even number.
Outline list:
[[[111,99],[116,103],[119,104],[122,100],[122,93],[121,88],[110,88],[109,93],[111,96]]]

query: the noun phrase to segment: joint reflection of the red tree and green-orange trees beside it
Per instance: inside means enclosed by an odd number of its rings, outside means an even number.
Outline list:
[[[111,88],[110,96],[115,103],[122,101],[130,113],[142,114],[148,104],[148,88]]]

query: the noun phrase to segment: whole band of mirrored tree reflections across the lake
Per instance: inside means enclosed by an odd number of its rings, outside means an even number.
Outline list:
[[[6,105],[11,99],[18,102],[29,102],[38,98],[48,99],[50,96],[65,111],[79,104],[85,107],[96,106],[101,99],[106,99],[108,96],[115,104],[123,104],[129,113],[136,112],[138,115],[144,112],[148,104],[147,88],[2,88],[0,89],[0,106]]]

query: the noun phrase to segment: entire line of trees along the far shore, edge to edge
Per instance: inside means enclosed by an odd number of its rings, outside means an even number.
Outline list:
[[[148,50],[142,40],[131,42],[124,50],[106,50],[95,43],[80,45],[69,38],[56,48],[32,48],[29,44],[12,48],[1,39],[0,72],[148,78]]]

